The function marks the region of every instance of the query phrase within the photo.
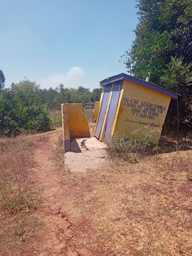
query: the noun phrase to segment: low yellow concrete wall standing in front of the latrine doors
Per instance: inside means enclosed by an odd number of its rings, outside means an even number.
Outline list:
[[[70,150],[70,138],[89,138],[89,123],[83,116],[82,104],[61,104],[64,151]]]

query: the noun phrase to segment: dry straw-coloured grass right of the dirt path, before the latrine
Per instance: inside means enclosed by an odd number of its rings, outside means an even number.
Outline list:
[[[66,211],[95,230],[84,243],[104,244],[108,255],[191,255],[191,151],[123,160],[66,174]],[[80,164],[80,163],[79,163]]]

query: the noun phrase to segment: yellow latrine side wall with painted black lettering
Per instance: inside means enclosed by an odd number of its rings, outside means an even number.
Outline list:
[[[152,141],[158,141],[171,97],[124,80],[123,94],[112,134],[133,138],[136,129],[156,129]]]

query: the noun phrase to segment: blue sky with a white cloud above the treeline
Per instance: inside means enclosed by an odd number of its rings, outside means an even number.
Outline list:
[[[0,0],[0,69],[6,87],[24,79],[55,88],[83,86],[126,72],[120,55],[131,48],[135,0]]]

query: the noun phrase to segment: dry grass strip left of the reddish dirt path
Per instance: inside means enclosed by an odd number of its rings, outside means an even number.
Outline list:
[[[40,203],[32,180],[34,147],[39,140],[45,138],[38,135],[0,140],[0,252],[3,255],[16,255],[24,242],[38,232],[39,222],[31,217],[31,212]]]

